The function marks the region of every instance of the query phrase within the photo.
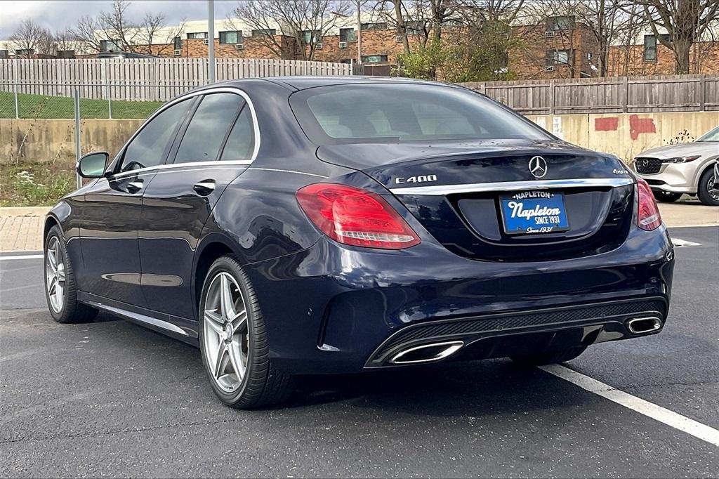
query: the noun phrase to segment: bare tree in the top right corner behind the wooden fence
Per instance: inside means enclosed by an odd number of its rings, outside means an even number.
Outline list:
[[[634,0],[644,8],[656,40],[674,53],[675,73],[690,73],[692,45],[719,17],[718,0]],[[668,37],[659,29],[667,31]]]

